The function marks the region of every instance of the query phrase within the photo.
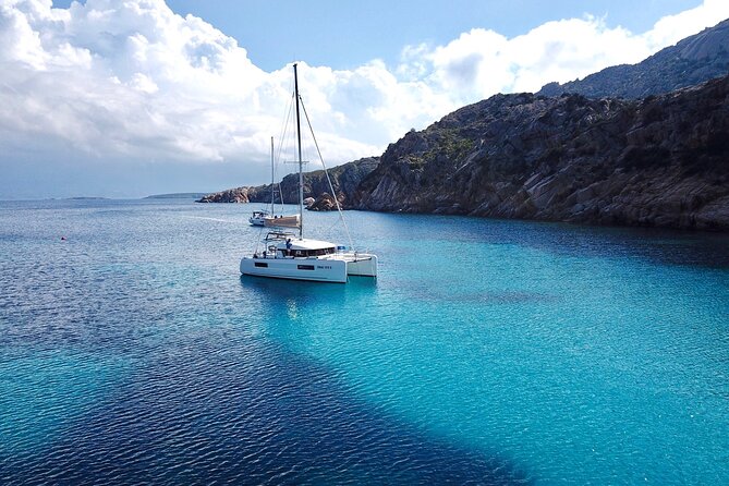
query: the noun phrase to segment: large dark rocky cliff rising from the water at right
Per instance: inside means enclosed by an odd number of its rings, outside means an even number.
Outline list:
[[[497,95],[391,144],[351,207],[729,229],[729,77],[644,100]]]

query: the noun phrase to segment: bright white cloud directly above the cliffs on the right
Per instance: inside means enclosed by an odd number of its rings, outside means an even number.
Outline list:
[[[610,65],[640,62],[727,17],[729,2],[704,0],[660,19],[642,34],[609,27],[590,14],[547,22],[511,39],[474,28],[446,46],[405,47],[397,72],[420,76],[458,107],[496,93],[535,92],[552,81],[563,83]]]

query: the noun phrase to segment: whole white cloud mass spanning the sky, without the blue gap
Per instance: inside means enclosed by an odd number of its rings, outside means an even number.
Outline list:
[[[511,39],[475,28],[445,46],[405,46],[397,66],[301,63],[302,93],[325,157],[341,163],[381,153],[465,104],[637,62],[728,16],[729,2],[705,0],[640,34],[590,15]],[[0,165],[52,163],[66,154],[97,165],[245,162],[258,170],[291,87],[289,66],[262,71],[234,39],[162,0],[69,9],[0,0]]]

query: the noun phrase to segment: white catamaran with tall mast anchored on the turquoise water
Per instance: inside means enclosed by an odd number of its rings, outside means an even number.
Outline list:
[[[299,96],[296,64],[293,64],[293,76],[296,107],[296,162],[299,165],[299,215],[296,215],[299,233],[271,229],[263,240],[263,251],[259,252],[256,248],[252,255],[246,255],[241,259],[241,274],[338,283],[345,283],[350,276],[377,277],[377,255],[347,251],[344,246],[327,241],[304,239],[304,161],[300,116],[302,101]],[[331,181],[329,183],[331,185]],[[331,193],[335,194],[333,189]],[[336,198],[335,202],[337,202]],[[341,216],[341,207],[338,202],[337,210]]]

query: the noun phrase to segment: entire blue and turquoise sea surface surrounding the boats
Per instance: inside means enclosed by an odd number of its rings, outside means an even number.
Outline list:
[[[252,209],[0,203],[0,484],[729,484],[728,236]]]

